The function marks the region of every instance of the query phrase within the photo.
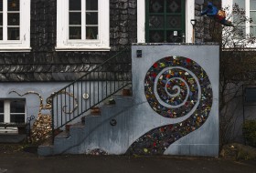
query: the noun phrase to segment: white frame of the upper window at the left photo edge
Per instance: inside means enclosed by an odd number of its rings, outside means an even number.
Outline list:
[[[3,25],[7,25],[7,0],[3,0]],[[29,52],[30,47],[30,0],[20,0],[19,2],[20,33],[19,40],[0,40],[0,52]],[[3,33],[6,38],[7,32]],[[5,36],[4,36],[5,35]]]

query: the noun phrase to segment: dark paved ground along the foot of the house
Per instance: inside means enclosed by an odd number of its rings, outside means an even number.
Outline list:
[[[256,173],[256,161],[223,158],[56,156],[38,158],[35,148],[0,145],[0,173]]]

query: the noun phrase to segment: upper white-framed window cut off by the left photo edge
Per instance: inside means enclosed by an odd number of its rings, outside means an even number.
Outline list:
[[[0,0],[0,51],[30,49],[30,0]]]

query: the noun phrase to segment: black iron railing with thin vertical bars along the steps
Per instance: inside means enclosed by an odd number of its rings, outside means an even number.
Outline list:
[[[126,47],[84,76],[49,97],[52,136],[55,130],[84,115],[91,107],[131,84],[131,48]]]

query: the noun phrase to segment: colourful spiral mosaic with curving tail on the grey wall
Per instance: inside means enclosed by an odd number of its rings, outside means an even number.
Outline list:
[[[133,142],[127,154],[164,154],[176,140],[201,127],[212,106],[208,75],[197,62],[183,56],[155,62],[144,78],[144,93],[159,116],[185,120],[150,130]]]

